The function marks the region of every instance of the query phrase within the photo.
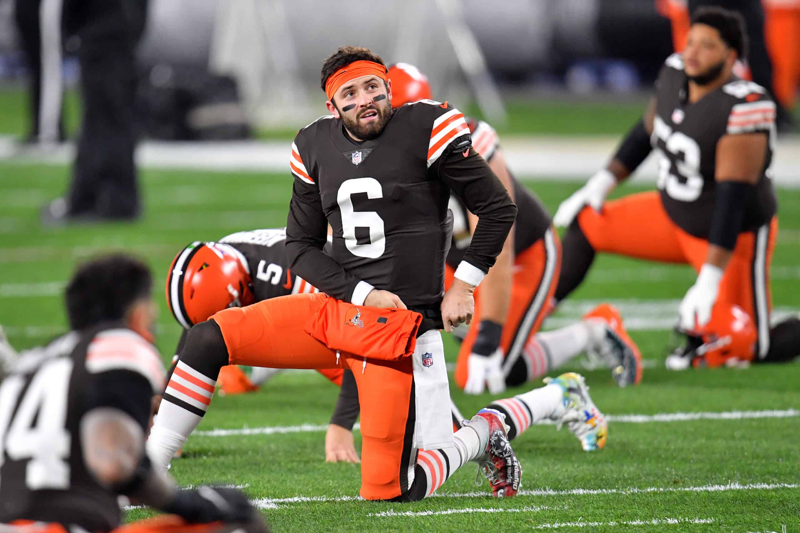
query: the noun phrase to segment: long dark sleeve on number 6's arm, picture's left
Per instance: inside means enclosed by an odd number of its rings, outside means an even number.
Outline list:
[[[286,220],[289,268],[320,291],[350,301],[360,280],[322,251],[327,237],[328,219],[322,211],[319,189],[295,179]]]

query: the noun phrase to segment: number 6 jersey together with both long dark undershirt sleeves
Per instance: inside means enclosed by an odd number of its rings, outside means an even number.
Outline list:
[[[463,114],[446,102],[403,105],[378,137],[361,143],[341,120],[322,117],[298,133],[290,167],[290,265],[339,300],[362,304],[374,287],[408,306],[438,305],[452,232],[451,189],[480,217],[464,272],[482,277],[514,222],[516,209],[502,183],[471,149]],[[328,222],[332,258],[320,250]]]

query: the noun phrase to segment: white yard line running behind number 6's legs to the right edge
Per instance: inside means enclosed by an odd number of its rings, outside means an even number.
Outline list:
[[[692,420],[750,420],[759,418],[794,418],[800,416],[797,409],[773,409],[765,411],[723,411],[723,412],[664,412],[655,415],[606,415],[606,420],[618,424],[650,424],[651,422],[690,422]],[[541,425],[555,422],[546,420]],[[360,426],[356,424],[354,429]],[[266,428],[212,429],[194,432],[204,437],[230,437],[244,435],[280,435],[285,433],[313,433],[327,431],[328,424],[301,424],[299,426],[270,426]]]

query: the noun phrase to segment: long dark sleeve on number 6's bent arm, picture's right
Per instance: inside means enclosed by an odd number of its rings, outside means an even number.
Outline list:
[[[478,225],[463,261],[489,272],[514,225],[517,206],[486,160],[471,146],[465,157],[462,148],[458,147],[440,158],[444,161],[438,173],[462,199],[466,209],[478,217]]]

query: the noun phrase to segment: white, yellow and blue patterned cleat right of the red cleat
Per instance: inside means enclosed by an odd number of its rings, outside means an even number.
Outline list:
[[[589,396],[589,387],[586,386],[583,376],[566,372],[557,378],[546,377],[544,382],[558,385],[564,393],[563,405],[566,412],[560,418],[554,419],[557,428],[561,429],[562,424],[566,423],[570,432],[581,441],[584,451],[594,451],[606,446],[608,424]]]

